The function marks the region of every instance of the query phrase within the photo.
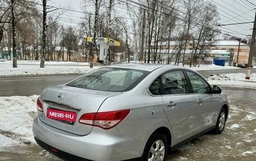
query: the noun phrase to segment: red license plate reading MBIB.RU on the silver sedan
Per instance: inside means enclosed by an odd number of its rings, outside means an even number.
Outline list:
[[[76,113],[48,108],[47,118],[58,119],[67,122],[76,122]]]

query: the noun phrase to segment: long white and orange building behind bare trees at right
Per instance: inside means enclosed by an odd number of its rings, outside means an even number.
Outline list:
[[[196,42],[196,41],[195,41]],[[186,45],[186,49],[181,50],[181,54],[178,59],[180,59],[180,62],[182,62],[182,59],[184,57],[185,64],[188,64],[191,58],[191,54],[194,52],[193,41],[189,41],[188,45]],[[201,51],[200,58],[196,61],[196,63],[205,63],[209,64],[214,63],[216,59],[222,59],[225,60],[225,66],[232,66],[234,63],[236,63],[237,55],[239,51],[239,57],[238,57],[238,63],[248,63],[249,58],[249,51],[250,47],[249,45],[245,43],[240,43],[239,47],[239,41],[237,40],[214,40],[211,43],[211,45],[205,45],[204,49]],[[179,52],[179,41],[171,41],[170,42],[170,49],[168,49],[168,42],[160,42],[160,47],[158,47],[157,50],[154,50],[154,45],[152,44],[152,53],[157,52],[157,57],[160,59],[160,61],[167,62],[170,61],[169,59],[173,59],[176,57],[177,53]],[[144,50],[144,53],[147,53],[147,47]],[[197,50],[196,53],[199,53]],[[194,53],[193,53],[194,54]],[[145,54],[147,57],[147,54]],[[151,57],[152,58],[152,57]]]

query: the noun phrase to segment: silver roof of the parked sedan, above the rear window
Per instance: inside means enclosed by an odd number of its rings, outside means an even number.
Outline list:
[[[130,68],[130,69],[143,70],[143,71],[149,71],[149,72],[152,72],[158,68],[169,68],[170,70],[171,69],[188,69],[188,68],[180,67],[180,66],[148,64],[148,63],[122,63],[122,64],[104,66],[104,67]]]

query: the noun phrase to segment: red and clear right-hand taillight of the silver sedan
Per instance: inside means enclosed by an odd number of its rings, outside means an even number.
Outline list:
[[[129,113],[130,109],[121,111],[86,113],[80,117],[79,123],[109,129],[120,123]]]

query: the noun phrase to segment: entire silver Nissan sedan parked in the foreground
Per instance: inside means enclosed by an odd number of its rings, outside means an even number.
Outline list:
[[[220,87],[168,65],[104,66],[45,88],[36,104],[35,141],[68,160],[165,160],[196,136],[221,134],[229,112]]]

